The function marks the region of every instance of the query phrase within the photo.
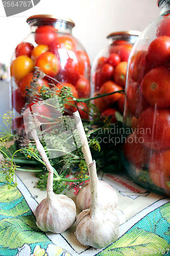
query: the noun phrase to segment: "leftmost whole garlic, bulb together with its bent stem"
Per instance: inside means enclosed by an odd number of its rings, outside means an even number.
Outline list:
[[[76,220],[76,205],[75,202],[67,196],[54,194],[53,166],[46,156],[35,129],[31,131],[31,135],[35,140],[37,150],[49,172],[46,186],[47,197],[38,204],[35,210],[36,224],[42,231],[62,233],[74,224]]]

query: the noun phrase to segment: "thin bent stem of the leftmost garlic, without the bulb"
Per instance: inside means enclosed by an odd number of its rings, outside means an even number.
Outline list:
[[[44,148],[43,148],[43,146],[42,146],[42,144],[41,144],[41,142],[38,138],[37,131],[35,129],[32,129],[31,135],[32,135],[33,139],[35,140],[37,150],[38,150],[40,156],[42,157],[42,160],[44,161],[45,166],[46,166],[46,168],[49,172],[48,173],[46,190],[47,190],[47,192],[53,191],[53,175],[54,175],[53,166],[51,165],[50,161],[47,158],[47,155],[44,151]]]

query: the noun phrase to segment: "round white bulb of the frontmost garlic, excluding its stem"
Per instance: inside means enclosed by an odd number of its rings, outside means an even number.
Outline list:
[[[83,210],[77,217],[76,236],[85,246],[104,248],[119,236],[119,220],[112,210],[98,209],[90,216],[90,209]]]

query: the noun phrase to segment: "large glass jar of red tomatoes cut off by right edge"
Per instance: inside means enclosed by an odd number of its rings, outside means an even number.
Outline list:
[[[170,1],[138,37],[128,62],[123,161],[135,182],[170,195]]]

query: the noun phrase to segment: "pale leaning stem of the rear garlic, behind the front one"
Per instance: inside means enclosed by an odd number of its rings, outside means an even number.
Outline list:
[[[80,118],[79,111],[77,110],[75,113],[73,113],[73,116],[75,118],[77,130],[78,130],[80,140],[82,143],[82,151],[83,151],[83,154],[84,154],[84,157],[86,160],[86,164],[87,164],[87,166],[89,166],[89,164],[92,163],[92,157],[91,157],[90,148],[88,145],[87,137],[86,137],[86,134],[84,131],[84,127],[83,127],[82,120]]]

